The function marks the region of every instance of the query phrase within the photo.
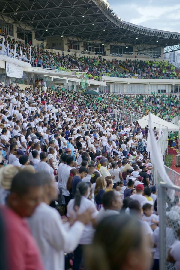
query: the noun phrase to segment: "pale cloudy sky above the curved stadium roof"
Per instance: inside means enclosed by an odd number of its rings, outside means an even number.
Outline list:
[[[108,0],[126,22],[180,32],[180,0]]]

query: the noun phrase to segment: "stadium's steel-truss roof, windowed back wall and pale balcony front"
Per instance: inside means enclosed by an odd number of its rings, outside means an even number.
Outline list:
[[[1,1],[0,28],[11,38],[22,42],[31,40],[35,46],[44,42],[44,46],[52,52],[59,52],[60,55],[76,53],[77,57],[103,55],[103,58],[110,60],[167,61],[164,60],[165,53],[180,49],[180,33],[125,22],[106,0]],[[5,78],[3,61],[0,61],[1,81]],[[36,77],[43,73],[38,68],[26,70],[23,67],[23,71],[26,77],[30,73],[30,76]],[[47,72],[44,72],[46,75]],[[102,77],[101,82],[93,83],[90,79],[86,81],[82,74],[63,79],[53,73],[50,76],[51,85],[61,84],[69,89],[78,88],[85,80],[88,87],[103,92],[148,94],[180,91],[179,80],[171,79]]]

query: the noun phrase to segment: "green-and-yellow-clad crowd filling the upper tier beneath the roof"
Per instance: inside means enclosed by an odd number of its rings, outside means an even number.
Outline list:
[[[0,43],[2,44],[2,38]],[[7,46],[8,43],[8,46]],[[158,60],[107,60],[98,57],[81,56],[75,54],[60,54],[46,49],[44,43],[40,46],[32,46],[29,43],[24,44],[22,41],[16,41],[10,37],[5,37],[5,50],[9,48],[10,55],[13,56],[16,46],[17,58],[22,61],[31,60],[33,67],[44,67],[51,69],[78,69],[80,72],[86,72],[86,77],[95,80],[101,80],[102,76],[107,77],[126,77],[141,79],[179,79],[180,73],[175,69],[173,64],[167,61]],[[30,58],[31,47],[31,59]],[[20,51],[21,49],[21,51]],[[22,52],[22,54],[20,53]]]

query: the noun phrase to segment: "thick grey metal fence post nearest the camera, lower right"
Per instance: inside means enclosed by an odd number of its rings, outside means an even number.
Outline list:
[[[159,241],[160,241],[160,260],[159,269],[166,269],[166,211],[165,211],[165,192],[164,183],[160,182],[158,187],[158,213],[159,213]]]

